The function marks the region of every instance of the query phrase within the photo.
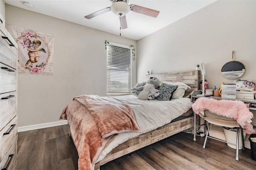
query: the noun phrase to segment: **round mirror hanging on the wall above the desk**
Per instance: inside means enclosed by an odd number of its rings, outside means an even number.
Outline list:
[[[239,61],[229,61],[224,64],[221,73],[227,79],[238,79],[244,75],[245,67],[244,64]]]

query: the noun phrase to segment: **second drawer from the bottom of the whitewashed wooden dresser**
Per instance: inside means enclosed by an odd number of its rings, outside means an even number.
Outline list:
[[[4,156],[12,154],[8,152],[10,152],[10,148],[17,143],[17,122],[17,117],[14,117],[14,119],[0,131],[0,162],[3,162]]]

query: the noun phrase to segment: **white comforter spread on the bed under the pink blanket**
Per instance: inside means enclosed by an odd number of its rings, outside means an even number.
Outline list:
[[[136,121],[142,130],[140,133],[125,132],[116,138],[101,152],[98,161],[102,160],[113,148],[140,134],[149,132],[170,123],[173,119],[186,113],[193,104],[189,98],[172,99],[171,101],[141,100],[134,95],[102,97],[110,101],[119,101],[130,105]]]

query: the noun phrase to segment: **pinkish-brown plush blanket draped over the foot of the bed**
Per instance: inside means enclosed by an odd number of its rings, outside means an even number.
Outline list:
[[[140,132],[129,105],[96,95],[74,97],[60,119],[67,119],[76,148],[79,170],[92,170],[106,142],[122,132]]]

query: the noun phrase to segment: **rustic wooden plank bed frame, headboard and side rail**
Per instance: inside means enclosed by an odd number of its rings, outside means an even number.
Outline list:
[[[189,95],[193,90],[200,89],[200,78],[201,71],[182,71],[182,72],[172,72],[172,73],[160,73],[146,75],[149,77],[158,77],[161,81],[172,81],[172,82],[183,82],[186,83],[191,89],[187,89],[184,97]],[[180,121],[169,123],[156,130],[141,134],[135,138],[127,140],[126,142],[118,145],[110,153],[108,153],[103,160],[95,164],[94,170],[99,170],[100,166],[106,164],[107,162],[120,158],[128,153],[134,152],[144,146],[148,146],[154,142],[172,136],[178,132],[182,132],[188,128],[194,127],[194,117],[188,117]]]

